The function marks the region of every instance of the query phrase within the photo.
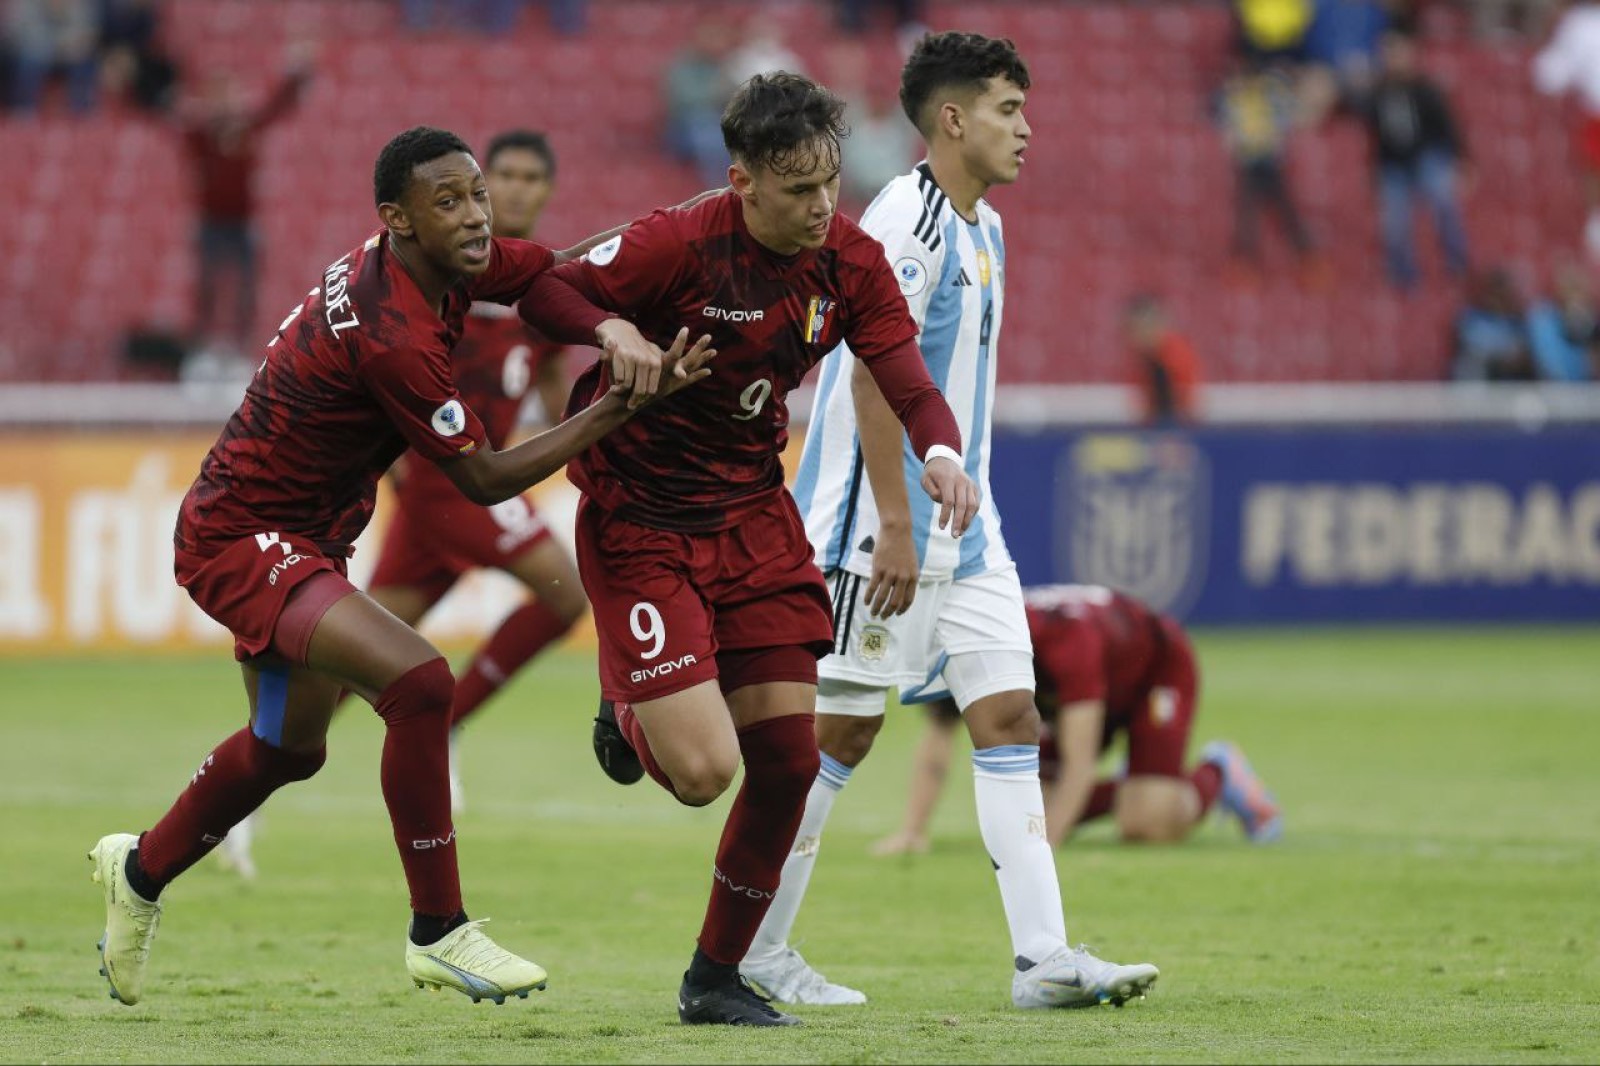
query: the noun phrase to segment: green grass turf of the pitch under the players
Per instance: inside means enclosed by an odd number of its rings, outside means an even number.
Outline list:
[[[378,794],[376,720],[282,792],[240,887],[168,893],[144,1004],[96,975],[85,850],[147,826],[240,719],[224,658],[0,664],[5,1061],[1594,1061],[1600,1058],[1600,632],[1202,634],[1197,741],[1234,736],[1288,836],[1208,824],[1170,848],[1104,829],[1059,855],[1069,930],[1157,962],[1125,1010],[1008,1005],[1005,922],[971,784],[936,845],[898,824],[914,714],[834,813],[800,936],[864,1008],[797,1031],[683,1029],[674,992],[726,800],[621,789],[589,754],[592,664],[541,663],[466,741],[467,898],[552,975],[528,1002],[422,994]]]

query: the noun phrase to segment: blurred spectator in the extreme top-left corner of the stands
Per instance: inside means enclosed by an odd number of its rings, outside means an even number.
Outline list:
[[[11,0],[11,106],[37,110],[51,75],[67,86],[67,104],[83,114],[94,107],[99,27],[94,0]]]

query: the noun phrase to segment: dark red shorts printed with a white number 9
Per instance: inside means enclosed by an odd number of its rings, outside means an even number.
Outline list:
[[[744,683],[814,683],[814,659],[834,647],[832,602],[789,493],[717,533],[656,530],[586,498],[578,570],[594,603],[606,699],[659,699],[723,672]],[[779,659],[784,675],[718,669],[718,653],[782,647],[806,650],[806,671],[794,656]]]

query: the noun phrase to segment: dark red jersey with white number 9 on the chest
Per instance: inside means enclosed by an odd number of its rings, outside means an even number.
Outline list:
[[[712,336],[710,378],[651,405],[570,467],[602,507],[662,530],[723,530],[770,506],[782,491],[789,391],[840,341],[869,368],[888,357],[882,368],[917,336],[877,240],[835,214],[821,248],[779,256],[750,237],[733,190],[648,214],[554,275],[662,347],[680,327],[691,339]],[[920,383],[899,397],[885,386],[891,407],[920,400],[922,389],[942,407],[915,347],[910,357]],[[590,367],[568,411],[608,384],[605,367]],[[960,450],[954,419],[950,427]]]

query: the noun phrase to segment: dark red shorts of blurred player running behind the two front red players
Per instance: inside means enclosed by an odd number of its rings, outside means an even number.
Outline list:
[[[395,495],[395,517],[368,587],[424,589],[434,599],[469,570],[509,570],[550,528],[523,496],[482,507],[450,487],[440,493]]]

